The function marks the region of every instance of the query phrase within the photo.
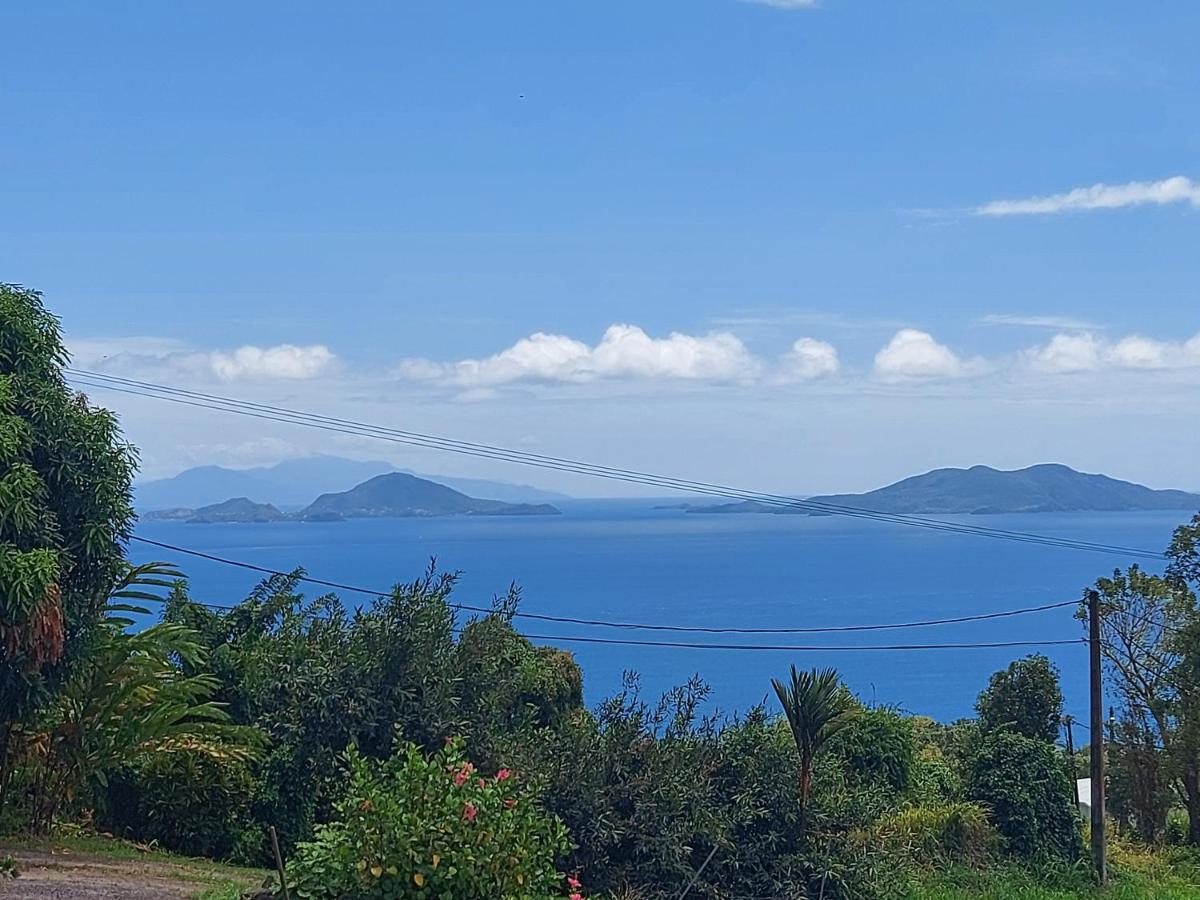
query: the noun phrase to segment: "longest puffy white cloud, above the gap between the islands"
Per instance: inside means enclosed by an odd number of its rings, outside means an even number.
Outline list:
[[[611,325],[600,343],[589,347],[564,335],[523,337],[484,359],[400,364],[403,378],[458,388],[486,388],[516,382],[588,382],[598,378],[748,382],[762,364],[728,332],[703,336],[672,332],[650,337],[636,325]]]

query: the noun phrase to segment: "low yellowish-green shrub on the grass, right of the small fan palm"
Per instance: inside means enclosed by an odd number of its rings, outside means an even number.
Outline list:
[[[988,814],[974,803],[911,806],[880,820],[869,836],[918,865],[982,863],[1000,847]]]

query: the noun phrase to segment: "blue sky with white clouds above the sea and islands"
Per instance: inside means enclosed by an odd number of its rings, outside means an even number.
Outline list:
[[[80,365],[746,487],[1200,488],[1194,4],[343,6],[0,13],[0,278]],[[148,475],[521,474],[104,401]]]

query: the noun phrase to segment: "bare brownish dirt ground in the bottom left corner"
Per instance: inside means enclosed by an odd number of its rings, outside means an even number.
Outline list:
[[[186,868],[156,859],[112,859],[90,853],[12,853],[18,878],[0,880],[4,900],[175,900],[194,898],[210,884]]]

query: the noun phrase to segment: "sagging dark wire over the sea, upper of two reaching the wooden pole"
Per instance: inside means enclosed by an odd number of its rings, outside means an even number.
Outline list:
[[[374,590],[372,588],[364,588],[355,584],[344,584],[336,581],[326,581],[324,578],[314,578],[307,575],[299,575],[296,572],[283,572],[276,569],[269,569],[266,566],[256,565],[253,563],[246,563],[240,559],[229,559],[227,557],[215,556],[212,553],[205,553],[199,550],[190,550],[187,547],[179,547],[174,544],[167,544],[164,541],[151,540],[150,538],[133,536],[132,540],[146,544],[160,550],[167,550],[175,553],[184,553],[187,556],[197,557],[199,559],[206,559],[212,563],[221,563],[222,565],[236,566],[239,569],[247,569],[250,571],[256,571],[263,575],[281,576],[286,578],[294,577],[298,581],[304,581],[311,584],[318,584],[320,587],[334,588],[335,590],[349,590],[359,594],[366,594],[368,596],[376,598],[389,598],[391,594],[389,592]],[[926,628],[932,625],[955,625],[970,622],[984,622],[988,619],[1009,618],[1014,616],[1025,616],[1028,613],[1044,612],[1048,610],[1057,610],[1066,606],[1078,605],[1078,600],[1067,600],[1056,604],[1044,604],[1042,606],[1028,606],[1020,610],[1006,610],[1002,612],[989,612],[980,613],[977,616],[959,616],[954,618],[946,619],[926,619],[923,622],[902,622],[902,623],[888,623],[888,624],[875,624],[875,625],[836,625],[836,626],[823,626],[823,628],[718,628],[718,626],[694,626],[694,625],[668,625],[668,624],[647,624],[636,622],[610,622],[606,619],[583,619],[574,618],[570,616],[550,616],[544,613],[533,612],[515,612],[514,616],[527,619],[536,619],[540,622],[557,622],[570,625],[590,625],[600,628],[617,628],[617,629],[630,629],[630,630],[647,630],[647,631],[673,631],[673,632],[694,632],[694,634],[736,634],[736,635],[785,635],[785,634],[844,634],[850,631],[884,631],[893,629],[907,629],[907,628]],[[233,610],[233,606],[217,606],[211,604],[202,604],[202,606],[212,606],[212,608]],[[481,612],[491,613],[492,610],[482,606],[472,606],[469,604],[448,604],[451,610],[458,610],[463,612]],[[532,637],[532,636],[530,636]],[[563,638],[568,640],[568,638]],[[582,638],[581,638],[582,640]],[[1025,642],[1019,642],[1025,643]],[[1062,641],[1060,643],[1074,643],[1074,641]],[[648,644],[648,646],[653,646]],[[708,644],[704,644],[708,646]]]

